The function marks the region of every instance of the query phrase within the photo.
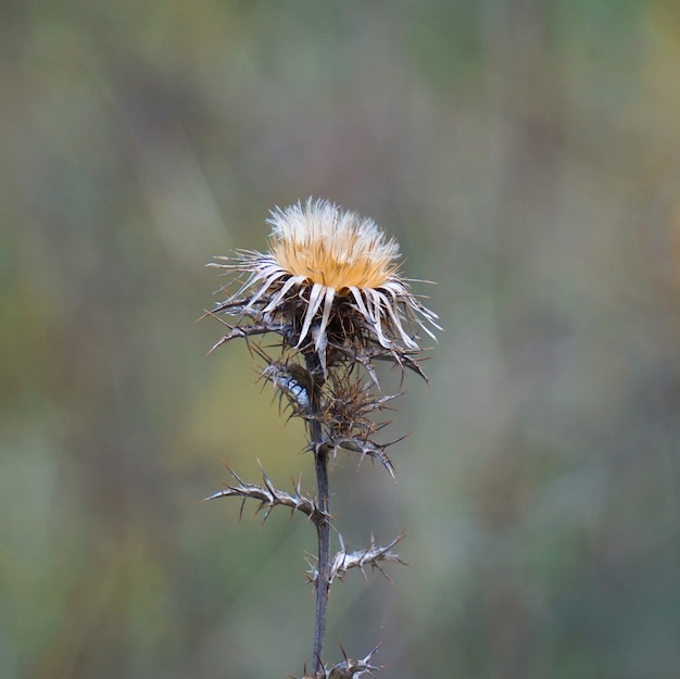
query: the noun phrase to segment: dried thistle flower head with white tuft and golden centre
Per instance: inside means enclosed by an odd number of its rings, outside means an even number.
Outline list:
[[[366,363],[385,355],[399,363],[417,351],[417,331],[435,328],[399,272],[399,246],[373,219],[310,198],[277,208],[269,251],[240,252],[214,264],[241,279],[216,312],[250,317],[257,331],[280,334],[297,349],[313,350],[326,370],[327,353],[354,351]]]

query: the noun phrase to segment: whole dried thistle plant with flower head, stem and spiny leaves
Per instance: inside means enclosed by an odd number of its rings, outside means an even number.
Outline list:
[[[267,253],[238,251],[209,265],[225,269],[229,278],[219,290],[228,292],[226,301],[206,312],[226,327],[211,351],[244,339],[264,363],[262,378],[274,386],[291,417],[305,424],[316,493],[305,495],[300,482],[292,492],[279,490],[264,469],[260,483],[248,483],[229,470],[232,482],[211,499],[240,498],[241,511],[252,499],[265,518],[276,506],[289,507],[314,524],[318,551],[306,577],[316,590],[316,615],[312,670],[307,674],[305,664],[304,677],[349,679],[379,669],[372,664],[377,646],[361,659],[342,650],[342,662],[324,663],[330,586],[351,568],[385,574],[386,563],[402,563],[392,549],[403,536],[385,545],[372,538],[365,549],[350,552],[338,533],[340,549],[331,557],[329,461],[345,451],[379,462],[394,476],[387,449],[395,441],[376,440],[387,423],[375,416],[395,397],[380,390],[376,363],[425,377],[417,362],[418,332],[433,338],[430,327],[439,326],[437,315],[412,292],[413,281],[401,276],[396,241],[372,219],[308,199],[275,210],[267,222],[273,227]],[[278,336],[274,348],[263,345],[265,335]]]

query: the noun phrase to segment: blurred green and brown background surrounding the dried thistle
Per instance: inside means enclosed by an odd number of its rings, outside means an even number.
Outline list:
[[[268,210],[374,217],[445,331],[339,457],[331,592],[379,675],[680,666],[680,4],[9,0],[0,9],[0,675],[302,675],[313,488],[256,362],[196,323]],[[399,389],[396,376],[386,376]]]

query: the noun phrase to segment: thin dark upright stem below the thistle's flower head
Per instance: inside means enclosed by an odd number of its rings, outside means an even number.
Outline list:
[[[312,676],[316,677],[324,668],[324,638],[326,636],[326,614],[328,611],[328,593],[330,590],[330,523],[328,521],[328,451],[323,447],[320,413],[320,389],[323,375],[318,355],[315,352],[305,353],[307,373],[312,378],[310,394],[311,417],[310,443],[314,452],[314,467],[316,469],[316,488],[318,508],[324,517],[316,521],[318,539],[318,576],[316,578],[316,614],[314,620],[314,650],[312,652]]]

